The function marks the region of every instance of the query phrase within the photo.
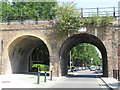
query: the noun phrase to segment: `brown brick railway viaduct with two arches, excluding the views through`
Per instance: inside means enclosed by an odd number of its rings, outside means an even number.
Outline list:
[[[53,30],[49,21],[1,23],[0,74],[28,72],[28,59],[32,50],[44,43],[49,51],[50,70],[54,76],[67,74],[70,50],[81,43],[96,46],[103,59],[103,75],[111,77],[118,69],[118,46],[120,30],[112,27],[87,26],[86,31],[70,31],[71,36]],[[120,49],[120,48],[119,48]],[[119,68],[120,69],[120,68]]]

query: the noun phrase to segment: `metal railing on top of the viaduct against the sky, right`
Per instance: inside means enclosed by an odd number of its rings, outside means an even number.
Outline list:
[[[99,16],[113,16],[120,17],[120,12],[118,11],[118,7],[102,7],[102,8],[80,8],[82,17],[91,17],[93,14],[97,14]]]

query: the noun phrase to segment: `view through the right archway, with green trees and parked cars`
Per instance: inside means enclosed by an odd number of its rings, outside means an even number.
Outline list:
[[[90,69],[101,74],[102,56],[99,49],[92,44],[78,44],[71,49],[67,66],[69,72]]]

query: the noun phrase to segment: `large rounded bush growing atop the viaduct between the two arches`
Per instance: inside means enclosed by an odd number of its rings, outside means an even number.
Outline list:
[[[82,18],[74,3],[61,3],[54,8],[56,15],[55,29],[67,33],[68,29],[80,28]]]

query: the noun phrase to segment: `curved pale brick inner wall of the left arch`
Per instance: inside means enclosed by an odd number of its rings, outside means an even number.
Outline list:
[[[23,35],[12,40],[8,47],[11,73],[28,72],[28,59],[34,48],[47,44],[41,38],[32,35]]]

